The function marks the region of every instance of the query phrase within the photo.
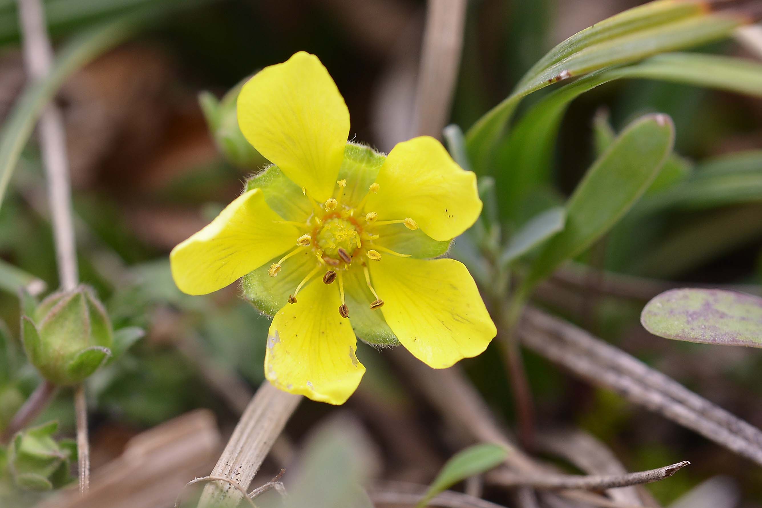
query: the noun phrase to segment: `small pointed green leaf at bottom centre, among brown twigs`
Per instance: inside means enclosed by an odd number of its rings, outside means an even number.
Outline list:
[[[469,448],[456,453],[437,474],[424,497],[415,505],[416,508],[427,506],[438,494],[467,477],[495,468],[505,460],[507,455],[506,449],[491,443],[469,446]]]

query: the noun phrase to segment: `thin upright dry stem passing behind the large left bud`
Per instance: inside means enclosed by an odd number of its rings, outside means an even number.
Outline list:
[[[31,79],[43,79],[53,65],[53,47],[45,24],[41,0],[19,0],[21,33],[24,34],[24,64]],[[77,286],[77,253],[72,220],[72,188],[69,182],[69,159],[66,153],[66,132],[61,111],[50,104],[40,117],[40,144],[47,177],[48,199],[53,220],[61,288],[72,291]],[[88,414],[85,388],[75,390],[77,413],[77,453],[79,491],[85,493],[90,485],[90,450],[88,443]]]

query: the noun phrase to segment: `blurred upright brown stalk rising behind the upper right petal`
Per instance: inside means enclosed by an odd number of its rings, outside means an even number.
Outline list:
[[[466,0],[429,0],[427,3],[412,123],[415,135],[441,137],[450,116],[463,52],[466,4]]]

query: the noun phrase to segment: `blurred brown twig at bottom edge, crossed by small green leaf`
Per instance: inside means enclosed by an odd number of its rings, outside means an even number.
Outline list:
[[[402,481],[384,481],[370,487],[367,490],[368,497],[374,505],[409,505],[414,506],[424,497],[425,485],[408,484]],[[446,490],[433,500],[429,501],[429,506],[441,506],[442,508],[504,508],[504,506],[490,503],[472,497],[468,494],[460,494],[452,490]]]

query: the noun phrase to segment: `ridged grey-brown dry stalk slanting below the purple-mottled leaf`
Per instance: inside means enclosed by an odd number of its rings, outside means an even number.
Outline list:
[[[762,464],[758,429],[584,330],[528,308],[519,334],[527,347],[591,383]]]

